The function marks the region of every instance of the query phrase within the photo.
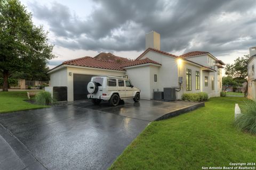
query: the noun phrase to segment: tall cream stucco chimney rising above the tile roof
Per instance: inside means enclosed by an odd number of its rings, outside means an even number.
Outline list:
[[[146,49],[154,48],[160,50],[160,35],[155,31],[146,33]]]

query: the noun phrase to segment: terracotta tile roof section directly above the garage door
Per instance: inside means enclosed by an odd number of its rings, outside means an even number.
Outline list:
[[[124,71],[120,63],[99,60],[92,57],[77,58],[75,60],[69,60],[69,61],[63,62],[62,64]]]

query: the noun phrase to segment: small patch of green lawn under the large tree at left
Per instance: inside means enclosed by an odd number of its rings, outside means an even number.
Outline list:
[[[26,91],[0,92],[0,113],[49,107],[30,104],[24,99],[28,99]]]

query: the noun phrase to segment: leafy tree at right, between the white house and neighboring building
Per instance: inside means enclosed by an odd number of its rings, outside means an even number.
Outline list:
[[[225,68],[225,74],[228,77],[234,78],[238,84],[246,82],[246,89],[244,91],[244,96],[246,97],[248,91],[247,82],[247,61],[249,60],[249,55],[244,55],[244,57],[238,57],[234,60],[234,64],[227,64]]]

